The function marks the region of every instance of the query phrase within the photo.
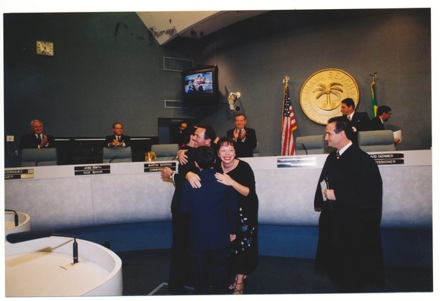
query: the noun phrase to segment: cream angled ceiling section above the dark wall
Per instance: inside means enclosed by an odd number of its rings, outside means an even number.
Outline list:
[[[261,15],[269,10],[161,11],[137,12],[159,45],[177,36],[203,38],[230,24]]]

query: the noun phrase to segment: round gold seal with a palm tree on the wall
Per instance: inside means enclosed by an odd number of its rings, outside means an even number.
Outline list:
[[[341,115],[341,101],[353,98],[359,102],[359,88],[354,78],[339,69],[323,69],[312,74],[302,85],[300,105],[313,122],[327,124],[328,119]]]

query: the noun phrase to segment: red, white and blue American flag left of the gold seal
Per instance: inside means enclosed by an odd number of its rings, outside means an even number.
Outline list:
[[[296,129],[295,114],[288,96],[288,82],[284,86],[284,108],[281,127],[281,156],[293,156],[295,144],[293,143],[293,131]]]

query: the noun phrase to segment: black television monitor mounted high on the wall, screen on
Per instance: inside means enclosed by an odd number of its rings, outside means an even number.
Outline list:
[[[219,68],[198,66],[182,71],[183,100],[186,105],[212,105],[219,101]]]

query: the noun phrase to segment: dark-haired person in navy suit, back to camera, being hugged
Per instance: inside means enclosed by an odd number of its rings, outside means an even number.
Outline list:
[[[189,249],[198,294],[228,291],[228,249],[235,240],[237,193],[217,181],[212,147],[196,149],[196,166],[203,186],[193,189],[184,183],[182,212],[189,214]]]

